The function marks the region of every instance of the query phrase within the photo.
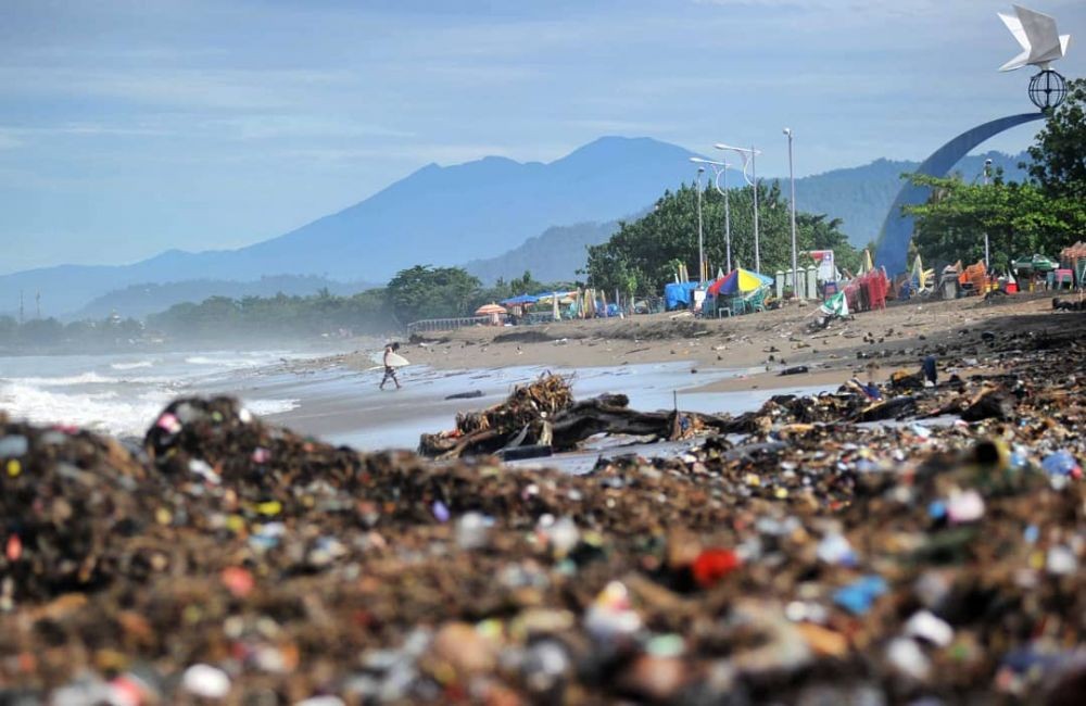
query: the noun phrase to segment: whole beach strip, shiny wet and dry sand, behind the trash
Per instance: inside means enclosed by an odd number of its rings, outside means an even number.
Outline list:
[[[416,339],[402,352],[402,390],[377,389],[372,352],[285,366],[258,389],[301,400],[269,420],[359,449],[414,449],[422,432],[451,429],[457,413],[485,408],[544,370],[574,376],[574,394],[628,394],[631,407],[738,414],[778,393],[835,390],[849,378],[885,381],[895,369],[915,370],[923,355],[951,346],[981,351],[982,331],[999,335],[1059,326],[1048,298],[997,304],[977,299],[904,303],[867,312],[809,332],[813,305],[735,319],[704,320],[658,314],[633,319],[563,322],[531,327],[475,327]],[[1039,330],[1039,328],[1038,328]],[[974,344],[974,341],[976,343]],[[372,342],[369,342],[372,345]],[[964,346],[964,348],[962,348]],[[940,374],[992,373],[988,367]],[[780,375],[806,366],[798,375]],[[480,392],[472,399],[449,395]]]

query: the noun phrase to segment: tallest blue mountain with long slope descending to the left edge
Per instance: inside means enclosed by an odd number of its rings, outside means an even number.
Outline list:
[[[31,299],[40,290],[49,313],[60,315],[141,282],[282,274],[383,282],[416,264],[492,256],[556,224],[633,213],[689,178],[692,154],[648,138],[605,137],[548,164],[494,156],[431,164],[349,209],[239,250],[173,250],[132,265],[63,265],[0,277],[0,311],[16,307],[21,290]]]

